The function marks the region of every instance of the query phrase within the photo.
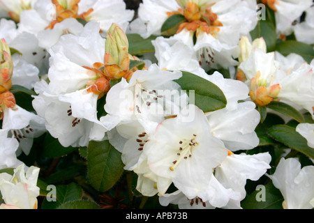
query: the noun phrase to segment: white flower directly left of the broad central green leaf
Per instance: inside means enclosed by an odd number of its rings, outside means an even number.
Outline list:
[[[121,121],[128,121],[134,116],[160,122],[163,117],[178,113],[180,106],[187,105],[186,94],[181,94],[179,84],[173,82],[181,76],[179,71],[162,70],[153,64],[149,70],[134,72],[129,82],[122,78],[107,93],[107,116],[100,121],[111,130]],[[172,100],[172,94],[179,100]]]

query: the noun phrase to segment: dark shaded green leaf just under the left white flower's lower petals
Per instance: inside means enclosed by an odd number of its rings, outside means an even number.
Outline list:
[[[46,133],[43,144],[43,155],[46,157],[60,157],[72,153],[75,150],[77,150],[77,148],[72,146],[63,147],[58,139],[52,137],[49,132]]]

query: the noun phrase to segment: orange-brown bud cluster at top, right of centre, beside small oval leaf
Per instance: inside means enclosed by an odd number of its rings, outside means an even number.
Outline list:
[[[177,33],[181,32],[183,29],[187,29],[188,31],[196,31],[196,36],[198,36],[198,33],[203,31],[216,38],[216,33],[220,31],[218,27],[223,26],[223,24],[218,21],[217,14],[211,11],[211,6],[201,9],[192,1],[186,3],[184,9],[179,8],[177,11],[167,13],[168,17],[174,14],[184,15],[187,20],[187,22],[179,24]]]

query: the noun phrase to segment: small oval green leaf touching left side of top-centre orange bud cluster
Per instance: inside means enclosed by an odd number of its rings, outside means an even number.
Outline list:
[[[165,22],[163,23],[163,26],[161,26],[161,35],[173,36],[177,32],[179,24],[186,21],[186,17],[181,14],[174,14],[168,17],[167,20],[165,20]]]

